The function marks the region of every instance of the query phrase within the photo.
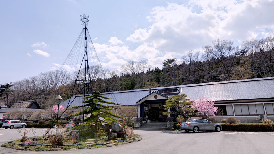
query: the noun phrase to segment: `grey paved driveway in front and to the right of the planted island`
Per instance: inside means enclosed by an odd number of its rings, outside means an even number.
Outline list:
[[[142,140],[115,147],[77,150],[77,153],[274,153],[274,132],[200,132],[196,134],[183,131],[134,130],[134,133],[141,135]],[[2,147],[0,153],[49,154],[49,152],[17,151]],[[74,154],[76,151],[50,153]]]

